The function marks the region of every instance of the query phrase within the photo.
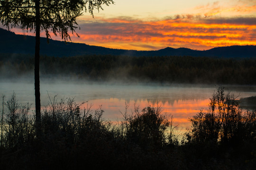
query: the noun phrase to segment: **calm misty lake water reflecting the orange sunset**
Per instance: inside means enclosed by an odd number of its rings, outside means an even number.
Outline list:
[[[49,101],[47,93],[51,98],[57,95],[58,100],[63,97],[75,98],[77,103],[88,101],[93,105],[92,109],[98,109],[101,105],[105,111],[103,117],[111,121],[122,118],[120,111],[124,112],[126,103],[129,105],[129,113],[134,109],[134,105],[139,106],[140,110],[146,106],[159,105],[163,112],[173,115],[174,125],[178,125],[183,131],[190,127],[189,117],[201,109],[208,109],[209,98],[216,85],[131,85],[41,80],[40,88],[42,106],[46,106]],[[225,90],[239,95],[238,99],[256,96],[256,86],[225,86]],[[6,96],[5,101],[13,92],[16,93],[18,102],[35,103],[33,81],[0,81],[0,94]],[[35,106],[32,105],[31,109],[34,110]]]

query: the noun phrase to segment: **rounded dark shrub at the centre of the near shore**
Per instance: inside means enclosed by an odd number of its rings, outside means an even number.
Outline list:
[[[167,135],[168,127],[172,127],[172,118],[171,121],[168,120],[168,117],[162,114],[160,107],[148,106],[141,112],[139,112],[138,107],[135,107],[132,115],[127,115],[127,112],[125,112],[123,116],[122,132],[125,139],[130,142],[146,148],[149,146],[163,146],[167,142],[171,143],[168,139],[174,140],[173,136]],[[172,130],[171,132],[173,132]]]

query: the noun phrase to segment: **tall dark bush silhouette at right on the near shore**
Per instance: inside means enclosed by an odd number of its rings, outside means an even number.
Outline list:
[[[193,143],[241,144],[256,140],[256,111],[241,110],[237,97],[219,86],[210,98],[209,110],[193,116],[187,140]]]

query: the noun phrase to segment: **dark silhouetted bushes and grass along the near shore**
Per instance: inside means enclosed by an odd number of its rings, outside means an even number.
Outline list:
[[[161,108],[134,108],[117,125],[103,110],[81,109],[73,99],[49,98],[35,134],[30,104],[15,93],[1,120],[1,169],[184,169],[251,170],[256,167],[256,111],[240,110],[219,87],[209,109],[190,118],[192,127],[178,141],[173,119]]]

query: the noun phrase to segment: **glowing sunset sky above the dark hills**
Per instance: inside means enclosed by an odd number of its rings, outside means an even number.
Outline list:
[[[94,11],[94,18],[83,13],[77,20],[80,37],[72,35],[72,42],[127,50],[256,45],[256,0],[114,1]]]

